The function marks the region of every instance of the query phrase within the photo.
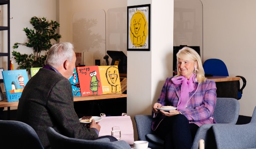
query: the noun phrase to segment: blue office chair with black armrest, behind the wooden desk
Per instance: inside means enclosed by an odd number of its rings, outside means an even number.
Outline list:
[[[204,68],[204,73],[205,76],[210,76],[210,75],[216,75],[216,76],[229,76],[228,71],[227,71],[227,66],[226,64],[219,59],[208,59],[204,62],[203,65]],[[243,89],[246,86],[246,79],[242,76],[236,76],[240,77],[243,81],[243,86],[240,89],[240,82],[238,83],[238,91],[237,91],[237,99],[241,99],[242,94],[243,94]]]

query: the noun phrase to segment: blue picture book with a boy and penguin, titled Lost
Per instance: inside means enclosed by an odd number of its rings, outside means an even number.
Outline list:
[[[7,102],[18,101],[29,81],[26,69],[3,71],[2,74]]]

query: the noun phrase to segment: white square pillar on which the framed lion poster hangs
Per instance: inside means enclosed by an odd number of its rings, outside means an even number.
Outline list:
[[[166,77],[172,76],[173,0],[128,0],[128,6],[151,3],[151,51],[128,51],[128,115],[151,115]],[[161,43],[161,44],[160,44]],[[135,123],[133,123],[136,126]],[[135,139],[137,130],[134,128]]]

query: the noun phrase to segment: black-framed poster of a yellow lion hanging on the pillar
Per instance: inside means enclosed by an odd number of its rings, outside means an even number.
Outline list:
[[[127,7],[127,51],[150,51],[150,4]]]

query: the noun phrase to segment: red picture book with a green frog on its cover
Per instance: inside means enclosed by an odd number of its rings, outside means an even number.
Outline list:
[[[76,67],[81,96],[102,95],[102,84],[98,66]]]

